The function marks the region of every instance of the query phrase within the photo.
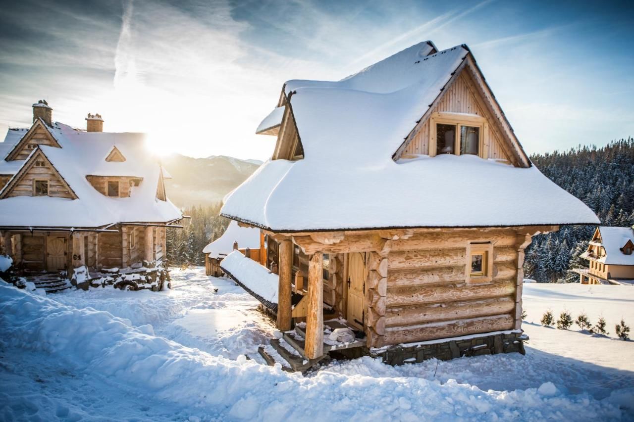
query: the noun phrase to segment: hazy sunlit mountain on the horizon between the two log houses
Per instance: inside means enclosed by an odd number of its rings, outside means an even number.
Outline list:
[[[262,164],[225,155],[191,158],[172,154],[162,158],[172,179],[165,179],[167,196],[177,207],[210,205],[223,200]]]

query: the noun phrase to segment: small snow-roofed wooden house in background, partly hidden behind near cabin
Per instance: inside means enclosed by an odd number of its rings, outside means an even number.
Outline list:
[[[261,244],[264,244],[263,238],[264,234],[259,229],[240,227],[237,222],[231,221],[223,235],[202,250],[205,254],[205,274],[214,277],[222,276],[220,262],[234,249],[262,265],[266,264],[266,250],[261,247]]]

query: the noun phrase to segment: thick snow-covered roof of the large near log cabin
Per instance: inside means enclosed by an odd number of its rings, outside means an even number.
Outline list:
[[[304,158],[269,160],[222,214],[273,231],[596,224],[533,167],[465,155],[394,162],[469,53],[422,42],[339,82],[290,80]]]

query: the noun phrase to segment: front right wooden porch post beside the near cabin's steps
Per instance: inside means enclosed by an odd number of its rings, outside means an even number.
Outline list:
[[[323,253],[315,252],[308,262],[308,313],[306,346],[309,359],[323,355]]]

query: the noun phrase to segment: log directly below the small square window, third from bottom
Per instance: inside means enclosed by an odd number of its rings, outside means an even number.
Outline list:
[[[455,300],[508,296],[515,293],[515,284],[515,279],[510,279],[481,285],[455,283],[424,287],[389,287],[387,292],[387,306],[433,304],[453,302]]]

